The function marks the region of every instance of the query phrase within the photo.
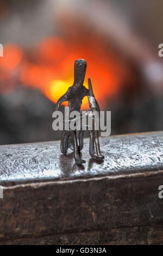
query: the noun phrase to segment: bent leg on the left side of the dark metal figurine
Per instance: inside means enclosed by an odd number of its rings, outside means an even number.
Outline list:
[[[69,137],[71,137],[73,139],[73,151],[74,151],[74,159],[75,159],[76,163],[77,164],[85,163],[85,161],[83,159],[80,159],[77,136],[74,131],[64,131],[64,133],[62,133],[61,145],[60,145],[61,153],[63,153],[63,154],[67,153]]]

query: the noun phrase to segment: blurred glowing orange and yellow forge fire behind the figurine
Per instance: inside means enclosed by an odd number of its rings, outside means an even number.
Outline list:
[[[28,54],[19,46],[5,45],[3,56],[0,58],[0,92],[8,91],[20,82],[25,87],[40,89],[54,103],[72,86],[74,60],[78,58],[87,62],[84,85],[88,88],[87,78],[90,77],[101,108],[130,77],[128,65],[106,50],[102,42],[95,40],[84,47],[78,42],[50,37]],[[86,98],[82,106],[89,106]]]

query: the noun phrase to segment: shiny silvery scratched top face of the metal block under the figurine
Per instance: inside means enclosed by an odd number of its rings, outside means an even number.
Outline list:
[[[107,175],[110,178],[157,173],[163,170],[163,132],[101,138],[104,161],[90,159],[89,139],[85,140],[77,166],[73,153],[60,153],[60,142],[0,146],[0,185],[9,186],[33,181],[79,179]]]

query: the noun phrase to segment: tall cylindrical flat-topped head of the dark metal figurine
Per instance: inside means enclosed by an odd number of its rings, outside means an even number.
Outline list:
[[[86,61],[84,59],[77,59],[74,62],[74,82],[73,85],[83,85],[86,72]]]

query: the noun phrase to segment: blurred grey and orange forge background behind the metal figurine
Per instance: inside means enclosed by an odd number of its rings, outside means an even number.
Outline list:
[[[0,0],[0,144],[60,139],[52,113],[78,58],[112,135],[162,130],[162,27],[162,0]]]

